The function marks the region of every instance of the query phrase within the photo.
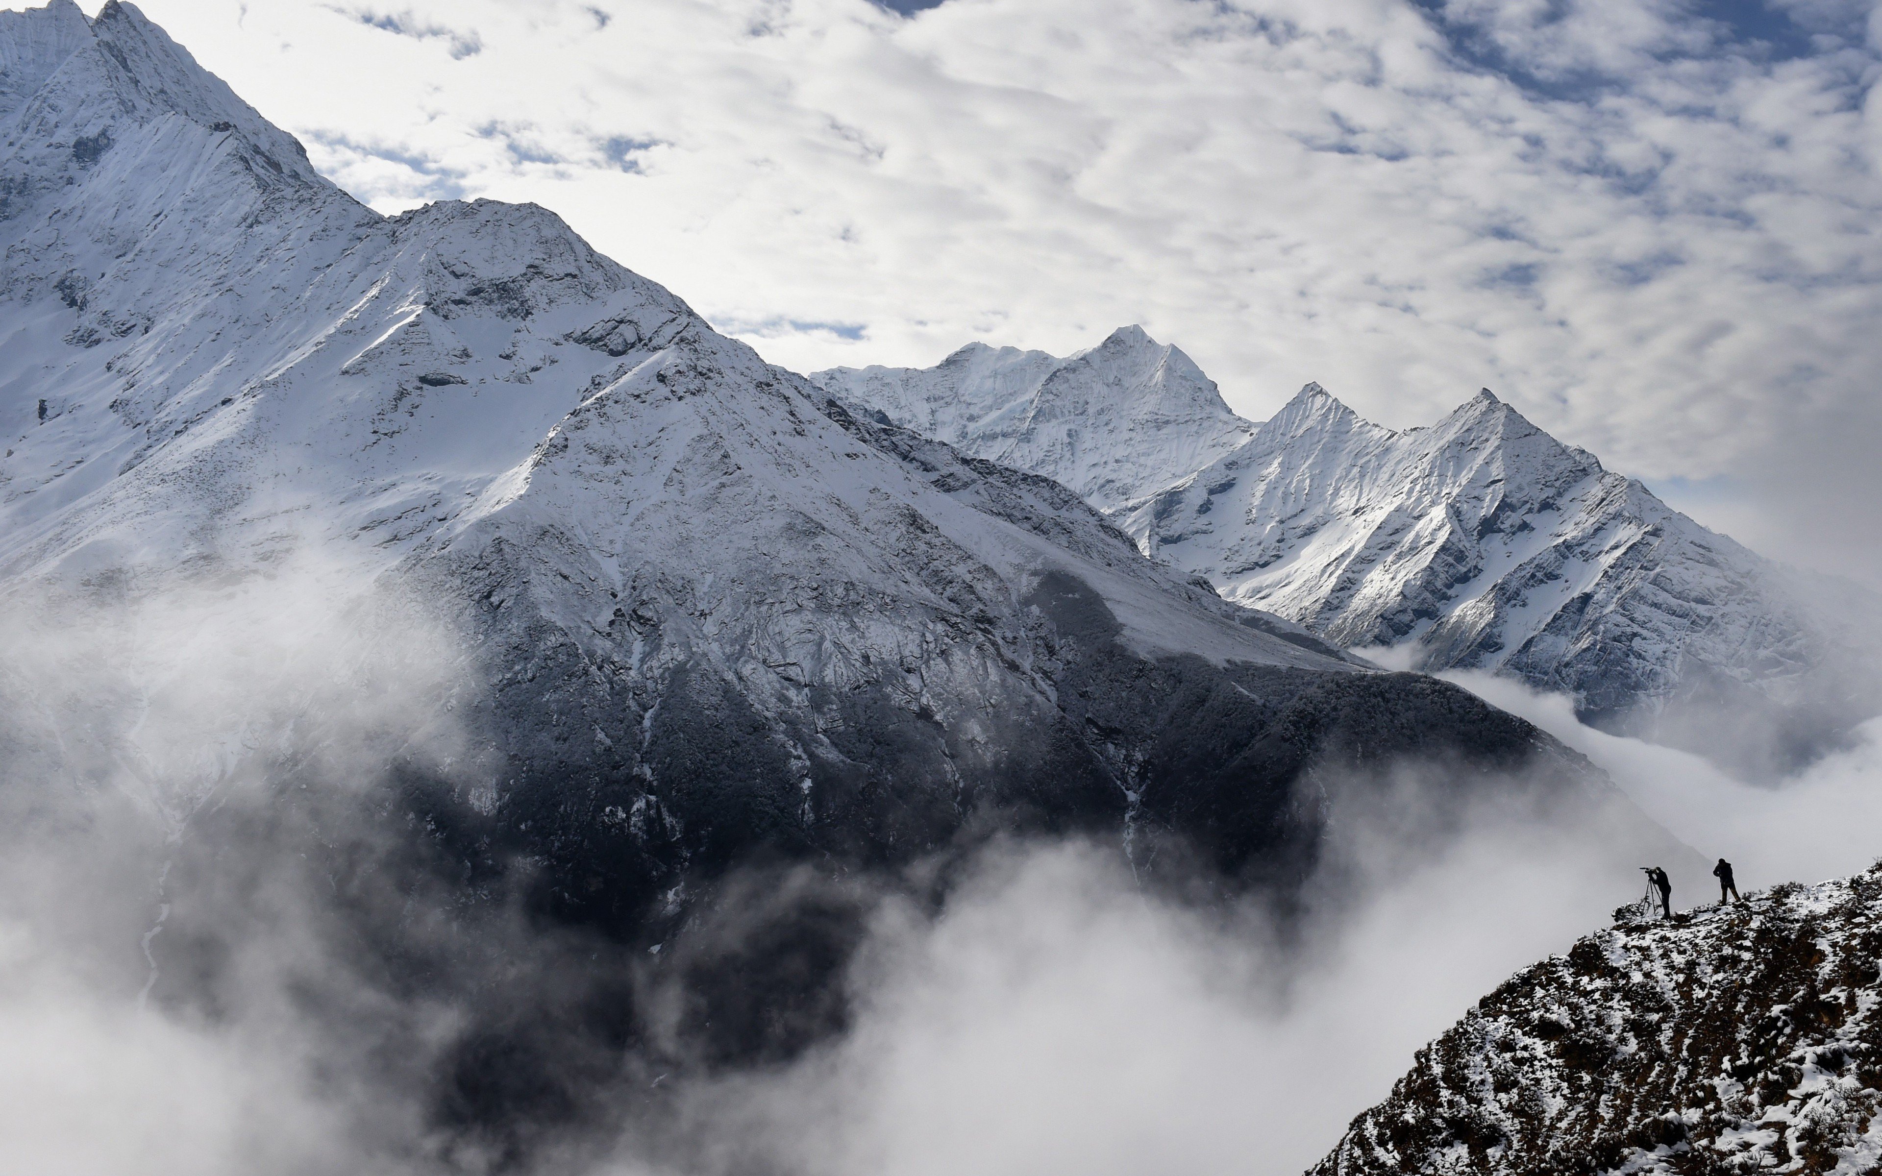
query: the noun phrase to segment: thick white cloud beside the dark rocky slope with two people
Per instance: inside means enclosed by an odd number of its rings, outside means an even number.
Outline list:
[[[860,1009],[783,1073],[687,1091],[700,1170],[1295,1174],[1417,1046],[1635,898],[1630,849],[1412,785],[1336,818],[1308,911],[1144,892],[1110,847],[1009,847],[949,907],[886,903]]]

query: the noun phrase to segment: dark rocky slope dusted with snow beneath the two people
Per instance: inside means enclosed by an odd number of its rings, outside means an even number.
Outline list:
[[[1312,1172],[1882,1170],[1882,869],[1628,922],[1487,995]]]

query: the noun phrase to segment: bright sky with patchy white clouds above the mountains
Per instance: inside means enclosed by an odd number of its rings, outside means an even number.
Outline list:
[[[538,201],[800,371],[1137,322],[1255,420],[1489,386],[1882,583],[1873,4],[141,8],[373,207]]]

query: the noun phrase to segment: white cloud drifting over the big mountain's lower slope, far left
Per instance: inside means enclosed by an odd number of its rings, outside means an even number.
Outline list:
[[[324,790],[341,809],[371,796],[393,758],[461,755],[437,707],[457,668],[420,613],[348,587],[288,559],[181,587],[96,578],[6,612],[0,1167],[312,1174],[367,1170],[380,1129],[420,1140],[410,1103],[335,1078],[425,1009],[386,1018],[348,978],[344,873],[282,834]],[[326,832],[365,850],[397,824]],[[339,993],[356,999],[307,1033],[309,1001]]]

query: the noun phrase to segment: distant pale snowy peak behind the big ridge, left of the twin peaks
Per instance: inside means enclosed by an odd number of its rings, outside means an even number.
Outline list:
[[[965,453],[1045,474],[1107,512],[1253,431],[1189,356],[1142,327],[1120,327],[1067,359],[971,342],[937,367],[836,367],[811,380]]]

